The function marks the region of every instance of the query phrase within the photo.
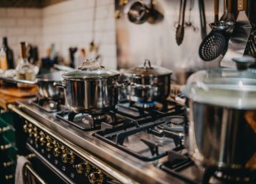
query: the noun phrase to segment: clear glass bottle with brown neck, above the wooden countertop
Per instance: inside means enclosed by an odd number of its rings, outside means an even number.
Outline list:
[[[35,68],[28,61],[28,45],[26,42],[21,42],[21,59],[19,61],[18,66],[16,67],[16,78],[26,81],[34,81],[35,80]],[[24,83],[18,83],[19,88],[28,88],[31,85],[27,85]]]

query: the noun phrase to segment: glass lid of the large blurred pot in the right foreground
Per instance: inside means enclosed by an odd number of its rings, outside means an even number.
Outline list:
[[[255,109],[256,71],[245,67],[255,63],[255,59],[243,57],[233,61],[237,63],[237,69],[219,68],[193,73],[182,86],[184,96],[216,106]]]

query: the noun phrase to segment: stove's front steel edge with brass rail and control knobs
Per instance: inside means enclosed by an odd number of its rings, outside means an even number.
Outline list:
[[[56,113],[46,113],[29,102],[9,105],[9,108],[26,119],[24,128],[31,136],[28,147],[37,155],[43,155],[51,167],[74,183],[82,181],[72,178],[72,174],[79,175],[80,168],[84,170],[84,180],[91,183],[187,183],[158,168],[159,160],[139,160],[92,136],[96,131],[81,131],[61,121]],[[56,157],[54,150],[61,156]],[[60,165],[55,164],[55,160]],[[88,163],[92,170],[86,174]],[[67,168],[65,172],[63,165]]]

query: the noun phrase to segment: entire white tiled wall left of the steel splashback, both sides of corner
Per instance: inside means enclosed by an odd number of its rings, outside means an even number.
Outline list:
[[[94,0],[96,1],[96,0]],[[44,9],[0,9],[0,38],[8,36],[15,58],[19,41],[39,46],[39,55],[54,43],[56,50],[69,60],[68,48],[86,48],[92,41],[93,0],[72,0],[47,6]],[[117,67],[114,0],[97,0],[95,39],[107,68]]]

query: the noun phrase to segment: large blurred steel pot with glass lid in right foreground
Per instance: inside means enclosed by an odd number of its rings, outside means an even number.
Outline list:
[[[188,98],[185,143],[192,160],[206,168],[255,177],[256,71],[198,71],[182,93]]]

